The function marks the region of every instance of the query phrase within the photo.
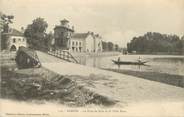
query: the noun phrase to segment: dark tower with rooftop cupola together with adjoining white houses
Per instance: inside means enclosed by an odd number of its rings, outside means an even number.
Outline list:
[[[55,46],[57,49],[70,52],[102,52],[102,39],[93,32],[74,33],[74,27],[64,19],[54,28]]]

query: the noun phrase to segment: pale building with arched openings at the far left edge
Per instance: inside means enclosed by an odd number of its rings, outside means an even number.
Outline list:
[[[27,40],[22,32],[10,28],[7,33],[2,33],[2,50],[17,51],[21,46],[27,47]]]

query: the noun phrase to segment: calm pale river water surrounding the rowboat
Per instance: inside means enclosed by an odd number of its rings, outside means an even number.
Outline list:
[[[121,65],[120,68],[112,60],[137,61],[139,57],[148,61],[146,66]],[[97,68],[124,69],[131,71],[159,72],[184,76],[184,56],[175,55],[119,55],[111,57],[82,57],[80,63],[86,66]]]

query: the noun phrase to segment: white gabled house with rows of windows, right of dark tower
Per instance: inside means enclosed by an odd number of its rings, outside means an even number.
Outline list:
[[[102,52],[102,40],[93,32],[74,33],[68,41],[70,52]]]

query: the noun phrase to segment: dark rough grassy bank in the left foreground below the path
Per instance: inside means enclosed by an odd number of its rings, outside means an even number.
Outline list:
[[[1,96],[15,100],[59,101],[68,106],[113,105],[114,100],[78,85],[80,76],[58,75],[45,68],[9,69],[2,67]]]

